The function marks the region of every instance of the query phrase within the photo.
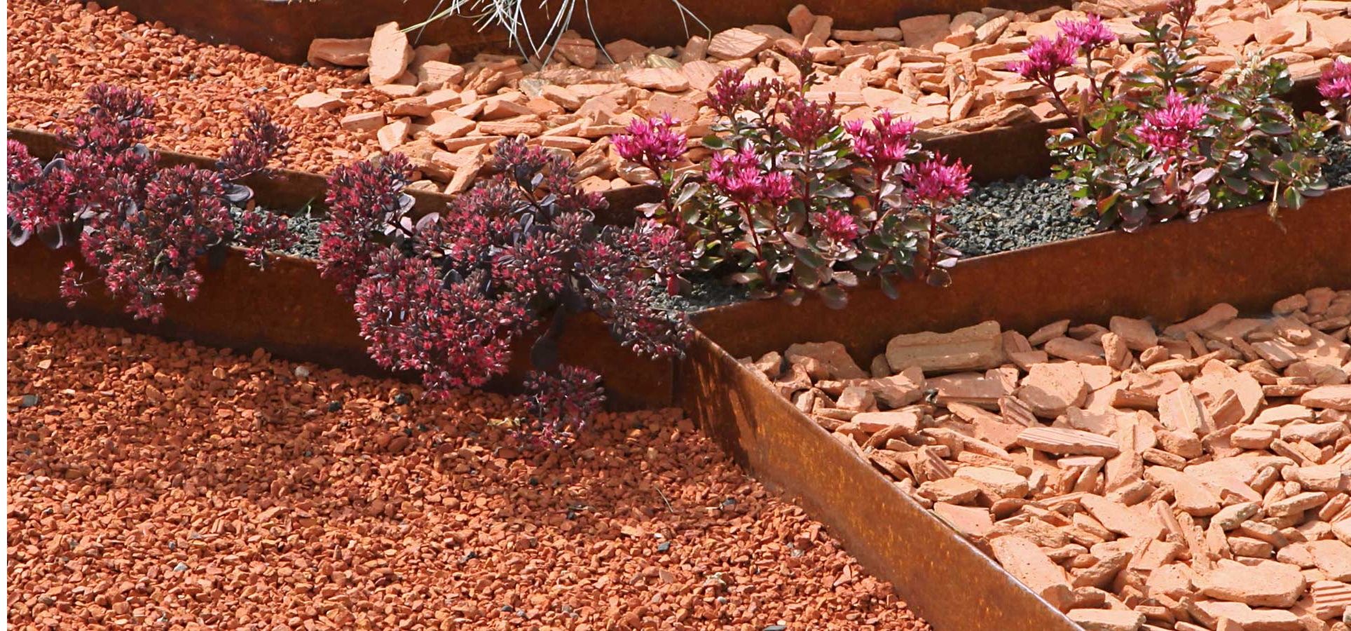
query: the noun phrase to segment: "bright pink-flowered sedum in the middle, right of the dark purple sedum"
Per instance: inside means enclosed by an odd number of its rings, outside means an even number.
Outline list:
[[[843,307],[846,289],[875,277],[888,296],[919,278],[944,286],[958,253],[946,209],[970,185],[970,169],[925,151],[913,123],[881,112],[842,123],[834,97],[807,97],[804,81],[747,81],[735,69],[715,81],[719,113],[704,138],[707,169],[677,174],[677,122],[638,120],[615,138],[624,159],[654,172],[662,200],[647,208],[680,227],[703,270],[723,273],[753,296],[798,303],[816,292]]]

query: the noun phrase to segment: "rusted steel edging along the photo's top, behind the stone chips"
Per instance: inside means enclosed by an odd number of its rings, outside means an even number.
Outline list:
[[[786,27],[788,11],[805,4],[812,12],[835,18],[838,28],[896,26],[902,18],[927,14],[979,11],[982,7],[1035,11],[1052,0],[682,0],[713,31],[746,24]],[[557,11],[561,3],[549,1]],[[584,7],[585,4],[585,7]],[[434,15],[440,0],[122,0],[118,3],[142,20],[163,22],[184,35],[213,43],[232,43],[278,61],[299,64],[315,38],[367,38],[377,24],[422,23]],[[531,32],[542,34],[553,15],[540,3],[526,1]],[[588,20],[586,9],[590,19]],[[634,19],[642,16],[642,19]],[[578,3],[571,27],[588,36],[594,31],[601,42],[630,38],[651,46],[685,43],[690,35],[707,35],[693,19],[681,19],[671,0],[593,0]],[[416,35],[416,31],[415,31]],[[467,59],[484,50],[507,50],[507,34],[500,28],[480,30],[469,19],[436,20],[426,27],[419,43],[449,43],[457,58]]]

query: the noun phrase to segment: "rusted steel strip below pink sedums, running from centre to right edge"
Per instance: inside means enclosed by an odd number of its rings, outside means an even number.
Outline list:
[[[698,313],[698,330],[736,357],[794,342],[838,340],[867,365],[897,334],[942,331],[994,319],[1031,332],[1061,318],[1113,315],[1161,322],[1229,301],[1256,311],[1294,292],[1351,282],[1351,186],[1328,192],[1273,222],[1265,207],[1165,223],[1138,234],[1105,232],[975,257],[952,286],[902,286],[889,300],[875,285],[831,309],[751,301]]]

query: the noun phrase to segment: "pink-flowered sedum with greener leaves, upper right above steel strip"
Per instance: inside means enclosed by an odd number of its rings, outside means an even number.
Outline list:
[[[1138,22],[1150,57],[1131,73],[1100,72],[1096,62],[1115,35],[1097,16],[1059,23],[1011,69],[1043,85],[1071,122],[1051,135],[1054,174],[1074,208],[1096,213],[1100,228],[1139,230],[1175,218],[1270,200],[1298,208],[1327,182],[1317,157],[1327,120],[1297,116],[1278,95],[1293,82],[1281,62],[1250,58],[1219,81],[1201,78],[1190,31],[1194,0],[1170,0],[1167,12]],[[1085,88],[1070,93],[1071,74]]]

